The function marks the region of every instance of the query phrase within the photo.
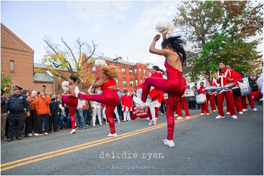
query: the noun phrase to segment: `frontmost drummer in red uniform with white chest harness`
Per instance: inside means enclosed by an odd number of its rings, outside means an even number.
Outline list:
[[[224,61],[220,61],[219,71],[217,71],[216,75],[214,76],[214,78],[216,79],[216,82],[220,84],[222,88],[224,88],[226,84],[231,83],[230,79],[232,78],[230,70],[226,69],[225,67],[226,67],[226,63]],[[219,115],[215,118],[216,119],[225,118],[224,111],[223,111],[224,98],[226,99],[226,106],[229,107],[230,109],[231,118],[237,119],[236,110],[234,106],[233,93],[230,90],[223,91],[222,93],[217,94],[217,107],[218,107]]]

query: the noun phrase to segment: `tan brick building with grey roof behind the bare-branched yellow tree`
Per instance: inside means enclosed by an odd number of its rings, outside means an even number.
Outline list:
[[[41,73],[45,73],[45,71],[47,71],[48,69],[48,65],[45,64],[38,64],[38,63],[34,63],[34,68],[39,68]],[[55,69],[59,75],[65,77],[65,78],[69,78],[70,77],[70,73],[69,71],[67,71],[66,69],[62,69],[61,67],[56,68],[55,66],[50,67],[50,69]],[[72,68],[74,72],[77,72],[77,70],[75,68]],[[61,83],[65,81],[64,79],[60,78],[59,76],[55,77],[54,80],[54,86],[55,86],[55,90],[53,90],[55,92],[56,95],[61,94],[62,93],[62,88],[61,88]]]

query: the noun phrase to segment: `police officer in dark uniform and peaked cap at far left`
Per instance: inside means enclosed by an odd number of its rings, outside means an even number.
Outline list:
[[[14,86],[14,95],[11,95],[8,101],[6,102],[5,107],[5,116],[7,117],[7,112],[9,111],[9,128],[7,132],[7,141],[12,141],[15,132],[16,139],[23,139],[21,134],[25,127],[25,108],[26,116],[30,116],[29,102],[21,94],[21,87]]]

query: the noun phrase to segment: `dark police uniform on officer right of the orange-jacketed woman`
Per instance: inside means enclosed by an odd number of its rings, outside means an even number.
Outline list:
[[[58,131],[58,129],[57,129],[58,113],[57,112],[60,112],[57,98],[52,98],[51,103],[50,103],[50,114],[51,114],[51,116],[49,116],[49,133],[52,132],[52,123],[53,123],[53,131],[54,132]]]

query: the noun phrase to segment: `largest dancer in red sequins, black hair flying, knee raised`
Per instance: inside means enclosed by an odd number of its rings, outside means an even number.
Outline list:
[[[169,147],[174,147],[173,131],[175,122],[173,113],[185,91],[185,86],[182,81],[182,65],[186,63],[186,53],[183,48],[185,42],[180,38],[180,35],[166,38],[167,31],[163,31],[162,34],[162,49],[155,49],[155,43],[160,39],[160,35],[158,34],[154,37],[149,52],[166,57],[164,65],[166,67],[167,79],[146,78],[141,100],[135,97],[133,99],[135,99],[134,102],[138,105],[144,107],[151,86],[168,94],[168,102],[166,106],[168,135],[167,139],[164,140],[164,144]]]

